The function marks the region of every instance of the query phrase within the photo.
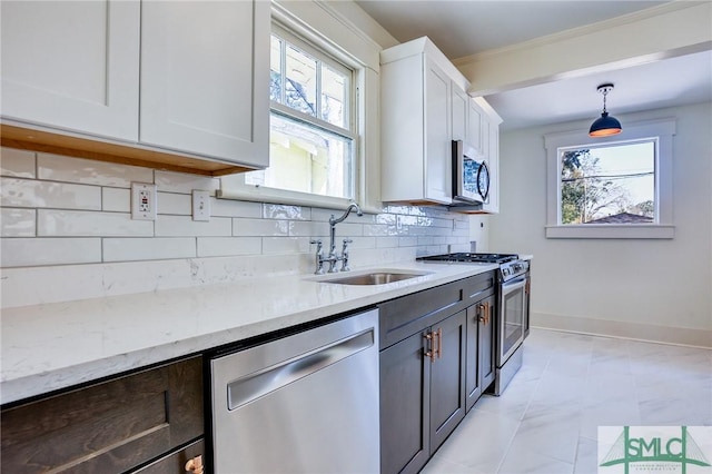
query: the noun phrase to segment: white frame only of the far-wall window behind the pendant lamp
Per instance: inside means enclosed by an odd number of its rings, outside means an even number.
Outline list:
[[[673,136],[675,119],[624,124],[619,135],[591,138],[585,130],[544,136],[546,148],[546,238],[674,238],[673,225]],[[561,224],[561,148],[589,148],[656,139],[654,224]]]

